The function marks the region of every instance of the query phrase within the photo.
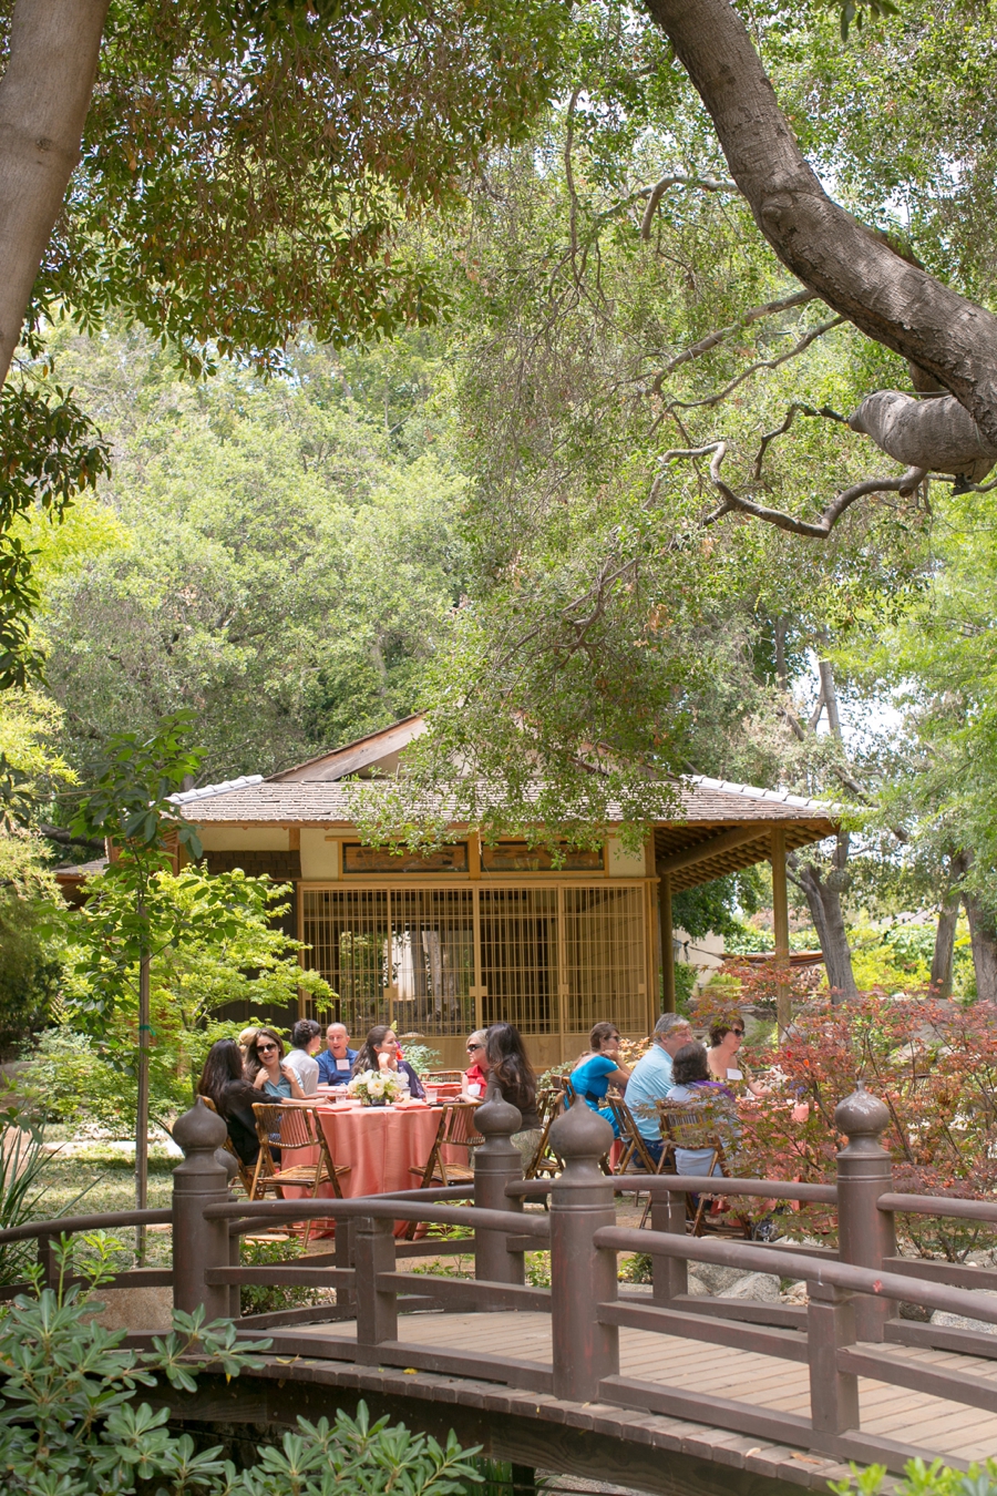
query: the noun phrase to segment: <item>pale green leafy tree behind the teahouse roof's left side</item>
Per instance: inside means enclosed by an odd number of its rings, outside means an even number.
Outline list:
[[[57,368],[118,452],[106,534],[48,568],[36,625],[87,782],[115,727],[151,735],[167,709],[196,709],[199,779],[218,781],[420,705],[465,585],[444,350],[299,344],[287,377],[191,386],[138,334],[58,331]]]

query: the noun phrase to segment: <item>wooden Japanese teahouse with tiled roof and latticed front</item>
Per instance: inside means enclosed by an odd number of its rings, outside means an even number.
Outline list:
[[[776,959],[788,953],[786,853],[834,833],[831,806],[692,775],[637,854],[610,833],[555,869],[550,853],[460,827],[427,857],[365,847],[344,781],[396,773],[422,729],[410,717],[266,779],[176,797],[211,872],[293,886],[290,929],[351,1035],[392,1023],[457,1065],[471,1029],[507,1019],[538,1067],[575,1055],[599,1019],[640,1037],[662,1001],[674,1007],[673,895],[765,860]]]

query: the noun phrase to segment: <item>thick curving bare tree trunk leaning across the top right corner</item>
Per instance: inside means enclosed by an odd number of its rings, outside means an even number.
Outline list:
[[[870,338],[934,374],[997,443],[997,317],[903,260],[827,196],[729,0],[647,0],[647,9],[783,265]]]

